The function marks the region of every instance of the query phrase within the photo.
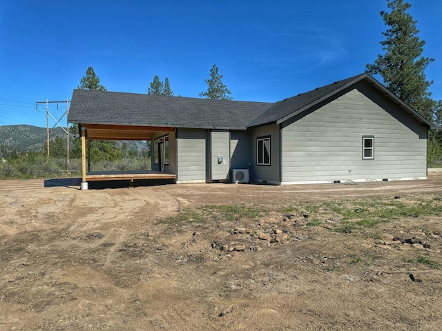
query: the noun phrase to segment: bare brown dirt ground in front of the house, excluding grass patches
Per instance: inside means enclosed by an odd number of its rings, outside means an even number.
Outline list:
[[[278,212],[374,197],[442,203],[442,173],[103,190],[0,181],[0,330],[441,330],[440,215],[346,233],[334,215],[307,226],[308,215]],[[272,211],[164,221],[233,203]]]

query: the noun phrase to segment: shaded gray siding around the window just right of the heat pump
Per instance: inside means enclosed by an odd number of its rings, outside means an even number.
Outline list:
[[[257,165],[256,139],[270,136],[270,165]],[[253,129],[251,132],[252,170],[253,181],[267,181],[267,183],[280,183],[280,126],[272,124]]]

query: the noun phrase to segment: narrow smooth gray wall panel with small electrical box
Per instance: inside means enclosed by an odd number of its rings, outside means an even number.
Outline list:
[[[211,179],[225,180],[229,179],[230,170],[230,132],[229,131],[211,131]],[[218,156],[222,156],[220,163]]]

